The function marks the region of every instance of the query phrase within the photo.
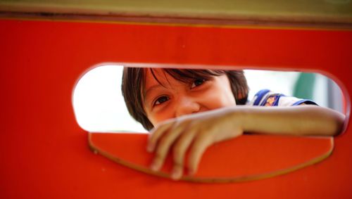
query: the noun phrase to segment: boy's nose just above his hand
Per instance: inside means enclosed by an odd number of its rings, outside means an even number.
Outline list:
[[[179,98],[179,103],[177,105],[175,116],[180,117],[182,115],[198,113],[200,109],[201,105],[196,100],[189,97],[182,97]]]

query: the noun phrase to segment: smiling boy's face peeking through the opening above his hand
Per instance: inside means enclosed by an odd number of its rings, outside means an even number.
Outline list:
[[[146,70],[144,110],[155,127],[159,122],[225,106],[236,105],[226,75],[180,82],[162,69],[153,69],[159,84]]]

